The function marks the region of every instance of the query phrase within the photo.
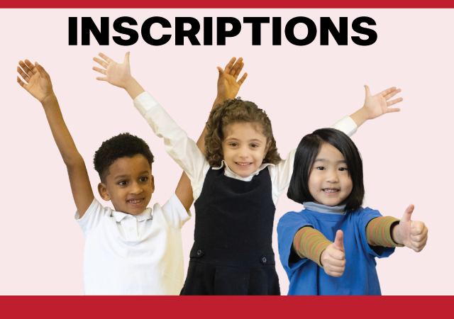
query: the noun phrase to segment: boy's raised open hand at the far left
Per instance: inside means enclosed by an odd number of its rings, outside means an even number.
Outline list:
[[[28,91],[35,99],[43,103],[46,99],[49,99],[55,96],[52,89],[52,82],[50,82],[50,77],[48,72],[45,72],[45,69],[41,67],[38,62],[35,62],[35,65],[28,60],[19,61],[19,65],[22,67],[17,67],[18,74],[21,74],[21,77],[24,79],[24,82],[17,77],[17,82],[24,89]]]

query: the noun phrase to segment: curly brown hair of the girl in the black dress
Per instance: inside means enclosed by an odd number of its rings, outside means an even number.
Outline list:
[[[218,104],[210,113],[206,123],[205,155],[211,167],[220,167],[223,160],[222,141],[226,135],[226,127],[231,123],[259,123],[262,134],[270,142],[263,163],[277,164],[282,161],[277,152],[276,140],[272,135],[271,121],[265,111],[255,103],[242,101],[240,97],[228,99],[223,105]]]

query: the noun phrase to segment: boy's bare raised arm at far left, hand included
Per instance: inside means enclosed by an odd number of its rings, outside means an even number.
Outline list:
[[[48,72],[38,62],[33,65],[30,61],[25,60],[25,63],[19,61],[19,65],[22,69],[18,67],[17,71],[25,83],[19,77],[17,77],[17,82],[43,105],[53,138],[67,167],[74,203],[82,218],[94,199],[84,159],[77,151],[70,131],[63,120]]]

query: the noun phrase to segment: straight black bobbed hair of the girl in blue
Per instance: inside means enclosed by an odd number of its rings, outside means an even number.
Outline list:
[[[304,201],[314,201],[314,197],[309,192],[309,175],[315,159],[319,155],[321,145],[324,143],[333,145],[342,153],[345,162],[347,162],[348,174],[353,181],[352,192],[343,201],[346,204],[345,210],[360,208],[365,193],[364,182],[362,181],[361,155],[353,140],[334,128],[314,130],[314,133],[304,136],[299,142],[287,197],[301,204]]]

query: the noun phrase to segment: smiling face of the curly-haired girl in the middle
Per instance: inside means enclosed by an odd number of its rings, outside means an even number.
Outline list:
[[[262,134],[259,123],[232,123],[225,129],[222,150],[228,167],[240,177],[258,170],[270,143]]]

